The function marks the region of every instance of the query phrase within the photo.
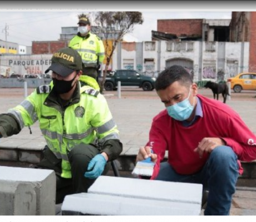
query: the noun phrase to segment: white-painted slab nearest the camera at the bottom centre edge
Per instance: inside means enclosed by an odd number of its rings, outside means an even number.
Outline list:
[[[199,215],[198,204],[102,194],[67,195],[61,215]]]

